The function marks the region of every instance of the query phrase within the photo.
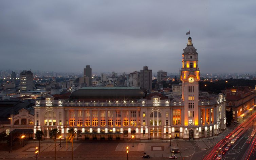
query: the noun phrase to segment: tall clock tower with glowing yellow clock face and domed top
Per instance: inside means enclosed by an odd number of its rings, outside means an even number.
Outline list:
[[[182,54],[182,100],[184,101],[184,126],[199,125],[198,81],[200,80],[197,50],[188,38],[187,47]]]

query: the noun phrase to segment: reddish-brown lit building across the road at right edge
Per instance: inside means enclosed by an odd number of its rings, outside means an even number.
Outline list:
[[[254,92],[249,87],[226,88],[226,109],[233,110],[233,119],[238,121],[255,106]]]

